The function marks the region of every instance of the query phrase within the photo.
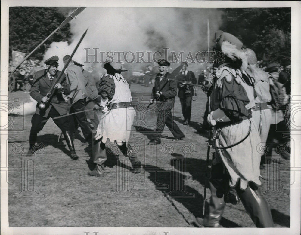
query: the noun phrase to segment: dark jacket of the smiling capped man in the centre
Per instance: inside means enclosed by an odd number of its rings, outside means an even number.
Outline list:
[[[161,88],[164,86],[162,92],[162,95],[156,99],[158,108],[161,110],[167,109],[170,110],[173,108],[174,103],[175,103],[175,96],[177,95],[177,82],[168,80],[170,77],[170,73],[167,72],[164,75],[164,78],[160,82],[160,74],[157,74],[157,77],[155,79],[155,86],[153,87],[153,93],[152,93],[152,98],[156,98],[156,91],[160,91]]]

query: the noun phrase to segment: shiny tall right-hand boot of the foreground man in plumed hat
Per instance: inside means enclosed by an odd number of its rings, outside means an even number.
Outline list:
[[[246,190],[241,190],[238,185],[236,186],[236,191],[256,227],[274,227],[271,210],[267,201],[262,197],[257,197],[257,194],[260,194],[257,186],[251,185]]]

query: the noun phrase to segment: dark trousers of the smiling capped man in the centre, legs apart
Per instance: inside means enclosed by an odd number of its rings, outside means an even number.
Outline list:
[[[183,132],[180,130],[178,125],[173,121],[173,117],[171,114],[171,110],[161,110],[158,113],[157,117],[157,129],[151,139],[158,140],[160,139],[161,134],[163,133],[164,126],[167,126],[168,129],[171,131],[175,138],[180,138],[183,136]]]

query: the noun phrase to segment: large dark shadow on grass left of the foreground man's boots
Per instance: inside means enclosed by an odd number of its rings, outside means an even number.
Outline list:
[[[173,154],[173,156],[183,158],[183,156],[179,154]],[[163,193],[163,196],[167,198],[171,197],[173,200],[181,203],[194,217],[203,218],[203,195],[185,184],[185,175],[180,172],[181,169],[178,168],[178,161],[171,160],[170,163],[177,171],[165,170],[148,164],[144,166],[144,170],[149,173],[148,178],[154,183],[156,189]],[[208,211],[208,203],[205,203],[205,209]],[[187,221],[187,219],[185,219],[185,221],[189,224],[191,222]],[[192,222],[192,224],[195,226],[194,222]],[[222,218],[220,224],[223,227],[241,227],[225,218]]]

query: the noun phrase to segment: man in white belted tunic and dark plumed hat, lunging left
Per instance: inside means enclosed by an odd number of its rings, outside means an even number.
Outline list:
[[[107,148],[114,149],[113,145],[118,146],[116,156],[121,153],[129,157],[132,164],[132,172],[141,172],[141,161],[133,155],[132,147],[129,145],[131,127],[136,115],[132,107],[132,94],[126,79],[105,62],[102,67],[107,70],[98,82],[98,94],[101,95],[100,109],[103,113],[93,138],[92,162],[95,169],[88,172],[90,176],[104,176],[104,163],[107,160]],[[114,152],[114,151],[111,151]]]

